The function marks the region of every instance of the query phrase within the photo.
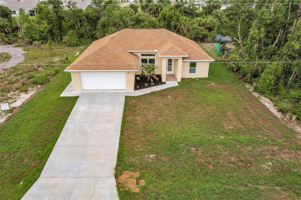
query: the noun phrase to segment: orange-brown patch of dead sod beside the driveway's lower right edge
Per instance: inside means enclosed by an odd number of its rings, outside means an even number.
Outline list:
[[[145,181],[140,179],[136,181],[136,178],[140,176],[139,171],[131,172],[129,170],[123,171],[123,173],[115,178],[116,183],[120,187],[120,190],[131,189],[131,192],[139,192],[137,185],[144,185]]]

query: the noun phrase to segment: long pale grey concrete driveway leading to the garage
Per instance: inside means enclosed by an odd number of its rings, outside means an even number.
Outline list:
[[[125,92],[81,93],[36,183],[22,199],[118,199]]]

